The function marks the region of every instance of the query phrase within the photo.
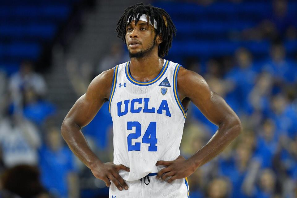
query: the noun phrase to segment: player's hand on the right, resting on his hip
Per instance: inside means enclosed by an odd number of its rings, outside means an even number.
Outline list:
[[[174,179],[183,179],[194,173],[195,165],[190,161],[186,160],[183,156],[179,156],[173,161],[157,161],[156,166],[164,165],[167,166],[158,172],[157,178],[161,178],[164,181],[166,178],[172,176],[168,183],[173,182]]]

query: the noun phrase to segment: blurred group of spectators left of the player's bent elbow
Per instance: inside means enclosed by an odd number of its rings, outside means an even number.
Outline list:
[[[0,197],[78,197],[73,155],[52,121],[45,79],[33,69],[24,60],[15,74],[1,73]]]

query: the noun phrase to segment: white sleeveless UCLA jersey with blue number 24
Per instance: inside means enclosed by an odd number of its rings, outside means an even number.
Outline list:
[[[175,160],[186,119],[177,93],[180,65],[164,60],[153,80],[140,82],[131,76],[130,61],[114,67],[109,111],[114,131],[114,164],[124,180],[134,181],[164,168],[157,161]]]

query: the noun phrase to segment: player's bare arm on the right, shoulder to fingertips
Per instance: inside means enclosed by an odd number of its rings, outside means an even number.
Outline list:
[[[157,178],[168,180],[181,179],[190,176],[198,167],[204,165],[222,152],[232,140],[242,131],[241,122],[235,112],[222,97],[214,93],[206,81],[197,73],[180,68],[178,73],[178,93],[181,101],[189,98],[204,114],[204,116],[219,128],[207,144],[192,157],[185,160],[179,157],[174,161],[158,161],[158,165],[165,165]],[[163,175],[163,176],[162,176]]]

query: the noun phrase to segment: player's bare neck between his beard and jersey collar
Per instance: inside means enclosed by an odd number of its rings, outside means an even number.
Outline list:
[[[164,59],[158,54],[141,58],[131,58],[129,65],[132,77],[141,82],[154,79],[162,70]]]

